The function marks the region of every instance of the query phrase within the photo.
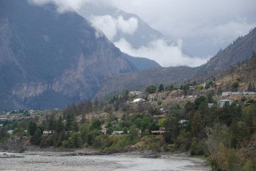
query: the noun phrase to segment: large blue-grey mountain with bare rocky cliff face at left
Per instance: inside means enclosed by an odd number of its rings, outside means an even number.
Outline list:
[[[65,107],[90,99],[102,80],[138,71],[74,12],[0,0],[0,109]]]

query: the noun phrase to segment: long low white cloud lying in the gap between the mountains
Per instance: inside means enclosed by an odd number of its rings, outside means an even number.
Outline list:
[[[147,47],[140,47],[138,49],[132,48],[130,43],[125,39],[115,42],[116,47],[120,48],[122,52],[125,52],[131,56],[147,57],[161,66],[200,66],[207,62],[207,59],[200,57],[191,58],[182,54],[182,41],[179,40],[177,45],[169,45],[164,40],[152,41]]]

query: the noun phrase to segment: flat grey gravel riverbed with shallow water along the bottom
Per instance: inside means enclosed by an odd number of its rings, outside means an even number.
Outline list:
[[[69,152],[0,152],[0,170],[209,170],[198,158],[138,154],[69,156]],[[4,157],[6,156],[6,157]]]

